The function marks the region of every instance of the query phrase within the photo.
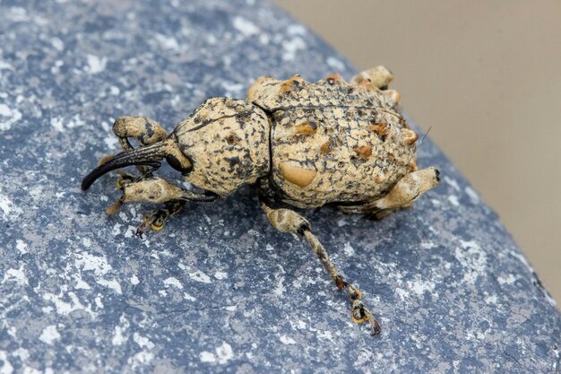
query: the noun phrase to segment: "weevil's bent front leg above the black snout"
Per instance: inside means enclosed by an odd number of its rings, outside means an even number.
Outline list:
[[[124,151],[134,149],[129,138],[134,138],[140,147],[144,147],[168,137],[166,130],[158,122],[148,117],[118,117],[113,124],[113,133],[119,138],[119,144]],[[101,159],[100,163],[104,161],[104,158]],[[149,171],[147,166],[139,165],[137,168],[142,174]]]

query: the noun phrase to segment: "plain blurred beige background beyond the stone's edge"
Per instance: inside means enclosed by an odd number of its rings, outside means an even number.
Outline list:
[[[277,0],[401,106],[470,179],[561,302],[561,1]],[[326,72],[327,73],[327,72]]]

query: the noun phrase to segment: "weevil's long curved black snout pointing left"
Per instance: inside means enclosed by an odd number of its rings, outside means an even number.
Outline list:
[[[151,144],[146,147],[135,148],[131,151],[125,151],[117,153],[107,162],[102,163],[96,169],[91,170],[82,180],[82,190],[90,188],[91,184],[96,181],[102,175],[108,173],[111,170],[117,170],[125,168],[125,166],[130,165],[147,165],[152,168],[160,168],[161,162],[168,154],[168,143],[159,142],[156,144]]]

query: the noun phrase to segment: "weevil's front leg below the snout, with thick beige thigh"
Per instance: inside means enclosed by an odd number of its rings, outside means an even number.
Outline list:
[[[133,181],[128,178],[120,179],[120,187],[123,190],[115,204],[108,207],[106,212],[115,214],[123,203],[142,202],[151,204],[166,203],[166,205],[155,212],[144,215],[143,222],[137,231],[139,234],[150,226],[154,230],[161,230],[168,218],[181,210],[186,201],[209,202],[218,196],[211,193],[195,193],[185,188],[177,187],[163,178],[146,178]]]

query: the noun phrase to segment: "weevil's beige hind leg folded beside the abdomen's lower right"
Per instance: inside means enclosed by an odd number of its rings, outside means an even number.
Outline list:
[[[362,205],[338,206],[345,213],[367,213],[381,219],[396,209],[409,208],[430,188],[440,184],[440,171],[427,168],[413,171],[401,178],[384,197]]]

